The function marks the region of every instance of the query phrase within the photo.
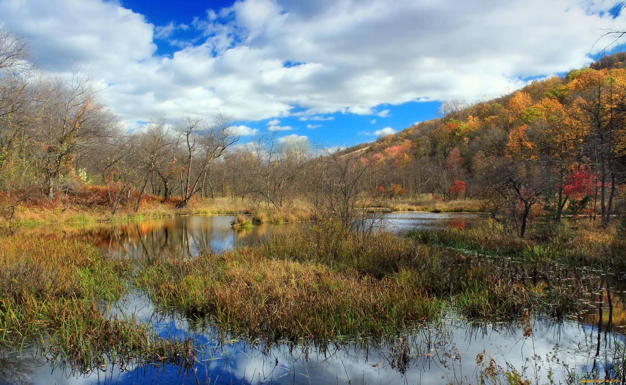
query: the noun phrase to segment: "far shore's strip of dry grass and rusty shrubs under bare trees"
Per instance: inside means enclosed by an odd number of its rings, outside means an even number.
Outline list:
[[[136,197],[123,202],[111,213],[104,187],[86,186],[85,191],[56,196],[31,197],[12,206],[16,198],[0,196],[1,225],[36,225],[48,223],[91,223],[103,221],[131,221],[154,217],[172,217],[194,214],[249,215],[255,223],[303,222],[317,219],[316,210],[305,199],[294,199],[288,206],[276,208],[264,202],[250,199],[195,197],[186,208],[177,208],[180,198],[163,199],[145,194],[135,210]],[[104,190],[106,191],[106,189]],[[6,195],[6,194],[5,194]],[[366,199],[367,201],[367,199]],[[2,208],[4,207],[4,208]],[[375,208],[371,208],[375,207]],[[476,199],[442,201],[431,194],[415,198],[371,199],[365,209],[377,211],[426,211],[426,212],[481,212],[484,207]]]

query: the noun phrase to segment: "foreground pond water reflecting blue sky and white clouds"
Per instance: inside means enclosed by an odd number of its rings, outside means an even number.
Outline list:
[[[515,323],[473,323],[448,312],[437,322],[390,336],[384,341],[284,341],[264,344],[220,331],[202,319],[164,315],[155,311],[145,294],[134,292],[120,302],[118,311],[134,312],[154,324],[165,336],[192,336],[201,347],[193,369],[168,364],[143,364],[121,371],[110,364],[86,373],[67,367],[41,366],[41,359],[13,358],[11,370],[20,376],[5,377],[4,383],[39,384],[447,384],[476,382],[483,365],[493,356],[520,369],[537,366],[539,383],[565,381],[564,365],[579,372],[599,369],[610,362],[611,347],[623,336],[574,320],[533,320],[533,336],[524,337]],[[598,337],[600,336],[600,337]],[[600,345],[598,338],[606,343]],[[405,352],[401,362],[402,352]],[[476,362],[485,351],[486,359]],[[19,355],[19,354],[18,354]],[[15,356],[13,356],[15,357]],[[535,358],[533,358],[535,357]],[[529,361],[530,359],[530,361]],[[558,359],[558,361],[557,361]],[[529,369],[529,371],[530,371]],[[533,381],[534,382],[534,381]],[[3,382],[0,382],[3,383]]]

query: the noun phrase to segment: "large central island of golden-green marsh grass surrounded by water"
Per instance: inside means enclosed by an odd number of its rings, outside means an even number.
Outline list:
[[[480,319],[517,316],[524,308],[553,316],[587,308],[580,276],[552,282],[567,275],[556,268],[533,282],[526,279],[530,270],[520,274],[532,266],[316,226],[220,255],[155,261],[136,283],[164,308],[270,339],[376,336],[446,306]]]

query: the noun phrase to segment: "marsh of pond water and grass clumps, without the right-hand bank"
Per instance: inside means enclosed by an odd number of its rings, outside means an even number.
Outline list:
[[[442,241],[486,216],[232,219],[8,229],[0,383],[623,381],[625,282]]]

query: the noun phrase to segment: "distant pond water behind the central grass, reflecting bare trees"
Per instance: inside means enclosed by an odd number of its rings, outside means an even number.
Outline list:
[[[230,226],[232,216],[178,216],[130,222],[88,225],[54,224],[22,227],[14,232],[29,236],[59,234],[84,239],[100,247],[102,254],[140,259],[164,256],[193,256],[199,252],[220,252],[263,242],[272,235],[300,231],[307,224],[259,224]],[[384,214],[382,226],[394,234],[410,229],[436,230],[446,227],[478,226],[485,217],[478,214],[391,212]]]

